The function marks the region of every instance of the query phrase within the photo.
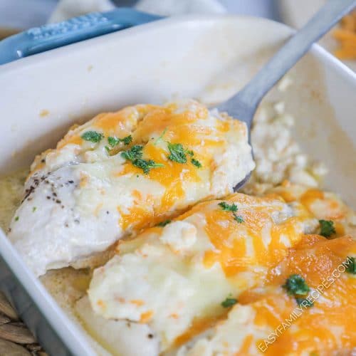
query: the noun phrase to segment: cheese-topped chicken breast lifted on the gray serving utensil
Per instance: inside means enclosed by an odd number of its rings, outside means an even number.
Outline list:
[[[246,125],[197,102],[103,113],[36,157],[9,239],[37,276],[91,266],[83,258],[233,192],[253,167]]]

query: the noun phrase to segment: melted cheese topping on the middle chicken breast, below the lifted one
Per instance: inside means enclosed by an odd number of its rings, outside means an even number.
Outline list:
[[[206,319],[221,318],[228,295],[258,285],[303,232],[318,225],[303,206],[281,199],[234,194],[225,201],[236,204],[242,222],[222,210],[221,201],[210,201],[164,228],[120,241],[117,256],[95,270],[90,283],[95,313],[148,323],[167,350],[191,328],[208,328]]]

